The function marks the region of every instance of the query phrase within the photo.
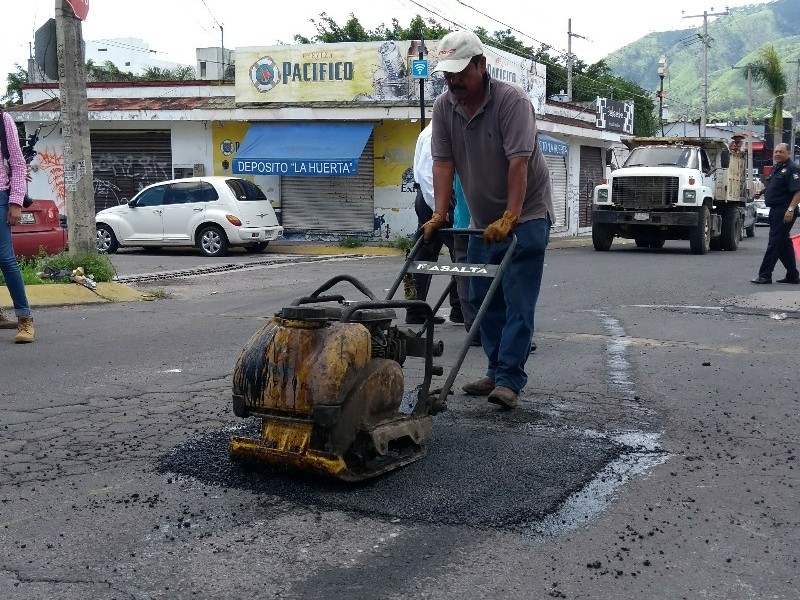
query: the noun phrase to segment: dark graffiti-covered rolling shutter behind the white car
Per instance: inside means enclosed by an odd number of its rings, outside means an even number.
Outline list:
[[[172,179],[169,131],[92,131],[95,211],[124,204],[151,183]]]

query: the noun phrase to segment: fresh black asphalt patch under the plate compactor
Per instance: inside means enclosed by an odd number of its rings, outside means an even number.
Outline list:
[[[232,461],[230,436],[258,437],[255,419],[188,440],[157,470],[323,510],[524,533],[628,450],[578,431],[543,434],[522,409],[495,413],[486,423],[439,415],[426,457],[359,484]]]

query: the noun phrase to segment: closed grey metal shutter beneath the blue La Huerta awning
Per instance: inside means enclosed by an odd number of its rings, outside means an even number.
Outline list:
[[[281,177],[281,212],[287,233],[371,234],[374,162],[370,134],[355,177]]]

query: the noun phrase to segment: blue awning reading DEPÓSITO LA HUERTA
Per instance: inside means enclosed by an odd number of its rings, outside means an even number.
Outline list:
[[[235,175],[358,175],[372,123],[252,123],[233,159]]]

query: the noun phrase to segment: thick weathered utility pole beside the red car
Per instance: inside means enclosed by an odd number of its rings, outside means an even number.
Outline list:
[[[69,253],[75,255],[97,252],[92,149],[86,99],[86,60],[80,19],[75,16],[67,0],[55,2],[67,235]]]

